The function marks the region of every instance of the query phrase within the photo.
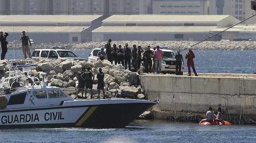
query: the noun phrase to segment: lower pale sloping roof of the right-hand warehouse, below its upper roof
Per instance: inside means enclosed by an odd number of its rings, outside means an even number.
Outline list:
[[[101,26],[93,30],[97,33],[191,33],[209,32],[216,26]]]

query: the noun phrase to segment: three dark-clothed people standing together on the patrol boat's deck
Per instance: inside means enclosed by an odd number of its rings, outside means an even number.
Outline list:
[[[76,92],[76,96],[78,98],[87,98],[87,89],[89,88],[90,90],[90,98],[93,98],[93,80],[94,80],[94,74],[91,71],[90,67],[82,67],[80,71],[76,74],[76,78],[78,79],[78,90]],[[98,97],[100,94],[100,90],[103,92],[103,99],[106,98],[105,96],[105,90],[104,90],[104,73],[102,72],[102,69],[99,68],[99,73],[97,74],[97,79],[98,79]],[[78,92],[81,90],[81,96],[78,96]],[[83,92],[85,90],[85,97],[83,97]]]

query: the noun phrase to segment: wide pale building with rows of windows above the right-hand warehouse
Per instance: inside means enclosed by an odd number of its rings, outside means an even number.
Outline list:
[[[207,15],[208,0],[152,0],[153,14]]]

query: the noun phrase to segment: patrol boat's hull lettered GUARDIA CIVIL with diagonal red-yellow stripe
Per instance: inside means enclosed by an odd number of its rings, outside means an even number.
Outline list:
[[[155,105],[117,103],[0,111],[0,128],[124,128]]]

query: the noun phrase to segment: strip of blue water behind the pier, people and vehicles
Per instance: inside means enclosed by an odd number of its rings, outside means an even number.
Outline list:
[[[31,53],[33,50],[31,51]],[[81,58],[88,59],[91,50],[74,50]],[[9,50],[6,59],[14,59],[14,50]],[[21,50],[16,51],[17,59],[23,58]],[[195,68],[198,73],[254,73],[256,72],[256,51],[194,51]],[[184,72],[188,72],[186,66],[186,51],[181,54],[184,58]]]

